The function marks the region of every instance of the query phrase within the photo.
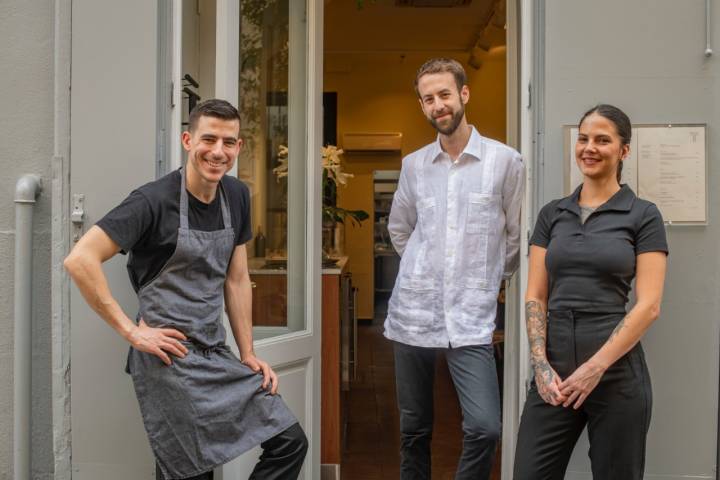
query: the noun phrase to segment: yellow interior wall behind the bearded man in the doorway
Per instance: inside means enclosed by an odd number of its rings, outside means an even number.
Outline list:
[[[446,54],[445,54],[446,55]],[[358,288],[358,317],[374,315],[373,170],[399,170],[402,156],[432,142],[435,131],[425,119],[413,89],[415,72],[431,57],[425,54],[328,54],[324,89],[337,92],[338,143],[345,132],[402,132],[402,155],[344,155],[345,170],[355,178],[338,190],[338,205],[363,209],[370,219],[345,229],[345,252]],[[463,55],[467,57],[467,55]],[[458,58],[461,60],[461,58]],[[494,49],[480,69],[465,64],[470,87],[468,121],[481,135],[505,141],[505,52]]]

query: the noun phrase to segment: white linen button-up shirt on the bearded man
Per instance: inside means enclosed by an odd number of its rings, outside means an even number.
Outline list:
[[[472,127],[457,160],[438,139],[403,159],[388,231],[401,256],[385,336],[420,347],[492,342],[503,278],[518,265],[525,167]]]

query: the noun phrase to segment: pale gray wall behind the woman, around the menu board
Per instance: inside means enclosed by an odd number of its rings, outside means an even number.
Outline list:
[[[715,478],[720,303],[720,8],[706,59],[704,0],[548,0],[544,201],[563,195],[562,125],[597,102],[633,123],[707,123],[707,227],[668,227],[661,318],[643,340],[654,391],[646,477]],[[568,478],[590,478],[587,441]],[[582,473],[585,472],[585,473]]]

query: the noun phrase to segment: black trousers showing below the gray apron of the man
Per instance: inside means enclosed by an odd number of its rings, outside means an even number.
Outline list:
[[[287,430],[275,435],[260,445],[263,453],[253,469],[249,480],[294,480],[300,475],[308,441],[300,424],[296,423]],[[163,477],[160,467],[155,466],[158,480],[170,480]],[[213,472],[207,472],[187,480],[213,480]]]

